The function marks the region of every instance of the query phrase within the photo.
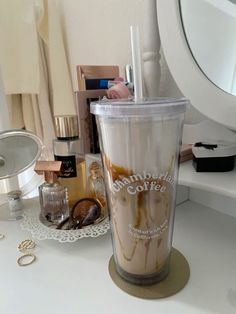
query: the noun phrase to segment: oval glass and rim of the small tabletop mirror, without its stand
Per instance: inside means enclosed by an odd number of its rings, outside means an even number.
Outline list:
[[[0,180],[18,175],[41,155],[42,142],[31,132],[0,132]]]

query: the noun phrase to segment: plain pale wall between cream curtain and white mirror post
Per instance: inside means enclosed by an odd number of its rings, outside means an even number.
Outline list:
[[[145,0],[61,0],[74,90],[77,64],[119,65],[131,62],[131,24],[143,37]]]

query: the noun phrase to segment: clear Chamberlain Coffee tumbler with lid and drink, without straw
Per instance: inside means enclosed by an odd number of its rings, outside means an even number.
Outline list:
[[[116,270],[135,284],[167,276],[185,99],[98,101]]]

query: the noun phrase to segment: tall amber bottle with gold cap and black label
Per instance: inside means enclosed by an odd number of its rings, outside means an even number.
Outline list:
[[[62,162],[58,181],[67,187],[69,206],[72,208],[86,196],[86,167],[77,116],[55,116],[55,130],[54,158]]]

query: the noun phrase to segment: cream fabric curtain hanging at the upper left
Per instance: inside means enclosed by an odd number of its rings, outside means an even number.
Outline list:
[[[0,1],[0,65],[12,128],[37,134],[49,151],[53,115],[75,114],[58,0]]]

